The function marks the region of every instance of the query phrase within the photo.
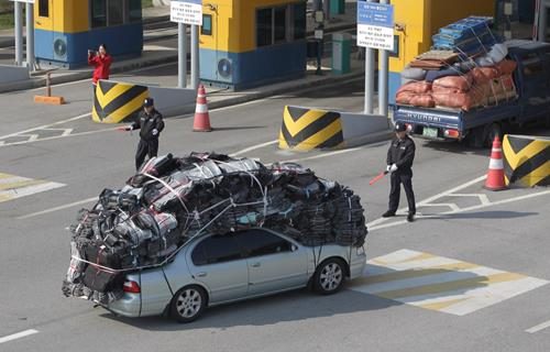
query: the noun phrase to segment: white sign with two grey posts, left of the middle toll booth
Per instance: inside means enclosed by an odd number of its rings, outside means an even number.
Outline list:
[[[187,86],[186,24],[191,25],[191,87],[199,85],[199,31],[202,25],[202,0],[172,0],[170,21],[178,23],[178,86]]]

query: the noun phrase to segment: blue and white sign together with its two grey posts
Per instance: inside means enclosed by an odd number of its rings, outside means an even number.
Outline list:
[[[365,47],[365,113],[373,113],[374,50],[381,51],[378,73],[378,109],[387,116],[388,52],[394,50],[394,8],[382,3],[358,1],[358,46]]]

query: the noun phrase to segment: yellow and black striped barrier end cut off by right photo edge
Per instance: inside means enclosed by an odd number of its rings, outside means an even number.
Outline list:
[[[550,185],[550,139],[506,134],[503,143],[506,185]]]

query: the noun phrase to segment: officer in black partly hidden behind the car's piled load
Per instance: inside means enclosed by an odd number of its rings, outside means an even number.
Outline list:
[[[135,152],[135,169],[145,161],[145,156],[155,157],[158,152],[158,136],[164,130],[163,116],[156,111],[153,98],[145,98],[143,111],[138,120],[129,127],[122,128],[124,131],[141,130],[140,144]]]

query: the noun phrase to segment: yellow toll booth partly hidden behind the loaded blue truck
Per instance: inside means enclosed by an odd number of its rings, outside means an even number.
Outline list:
[[[469,15],[494,16],[494,0],[392,0],[394,6],[394,52],[389,53],[388,101],[402,85],[400,72],[416,56],[429,51],[431,36],[440,28]]]

